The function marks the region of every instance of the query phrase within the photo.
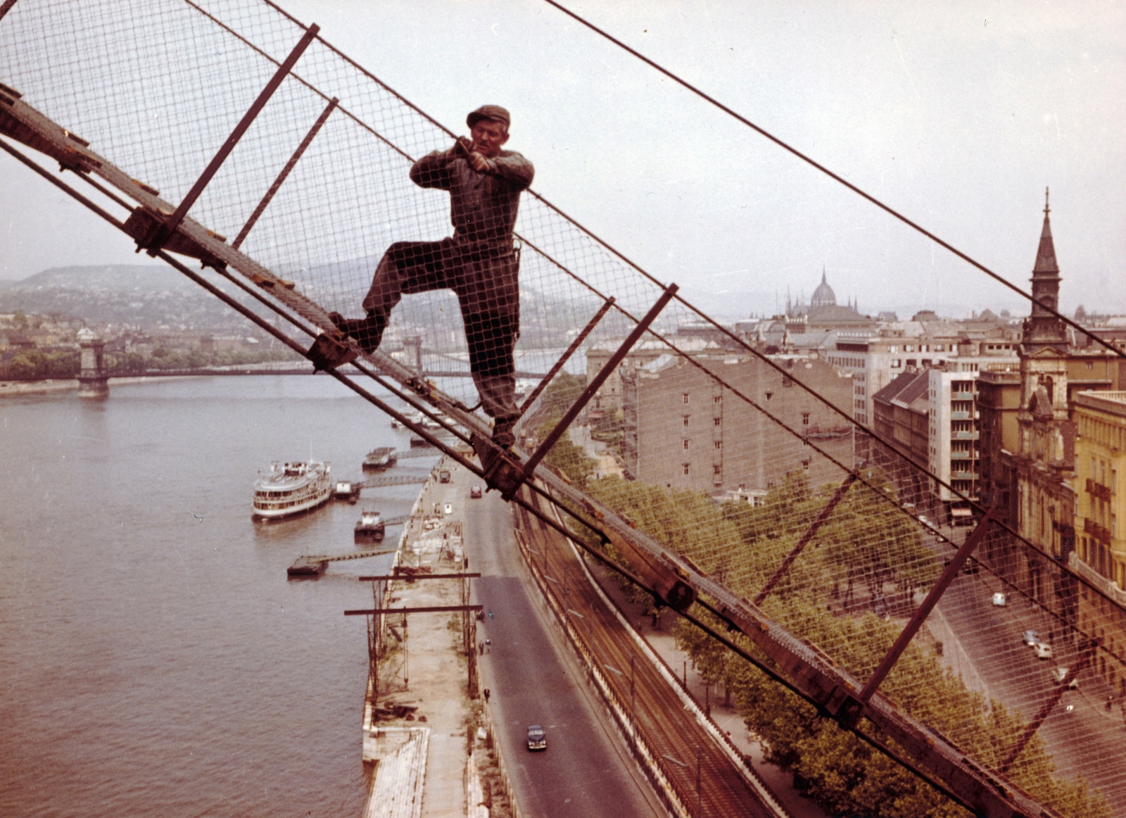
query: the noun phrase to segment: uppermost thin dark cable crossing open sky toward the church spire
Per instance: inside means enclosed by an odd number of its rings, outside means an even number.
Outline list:
[[[1126,358],[1126,352],[1123,352],[1121,349],[1119,349],[1118,347],[1114,346],[1112,344],[1109,344],[1109,343],[1102,340],[1097,335],[1094,335],[1090,330],[1081,327],[1079,323],[1076,323],[1072,319],[1067,318],[1062,312],[1058,312],[1054,308],[1052,308],[1052,306],[1049,306],[1047,304],[1044,304],[1044,303],[1037,301],[1035,297],[1033,297],[1031,293],[1026,293],[1024,290],[1021,290],[1020,287],[1018,287],[1016,284],[1012,284],[1011,282],[1009,282],[1008,279],[1006,279],[999,273],[994,273],[992,269],[990,269],[989,267],[986,267],[985,265],[983,265],[981,261],[977,261],[972,256],[968,256],[967,254],[963,252],[962,250],[959,250],[958,248],[954,247],[949,242],[944,241],[939,237],[935,235],[935,233],[930,232],[929,230],[927,230],[922,225],[918,224],[917,222],[912,221],[911,219],[908,219],[905,215],[903,215],[902,213],[900,213],[897,210],[895,210],[891,205],[884,204],[878,198],[876,198],[872,194],[865,192],[863,188],[857,187],[856,185],[854,185],[848,179],[844,179],[843,177],[839,176],[838,174],[834,174],[832,170],[830,170],[825,166],[821,165],[815,159],[806,155],[802,151],[797,150],[796,148],[794,148],[792,144],[789,144],[785,140],[781,140],[778,136],[775,136],[772,133],[770,133],[769,131],[767,131],[762,126],[756,125],[753,122],[751,122],[750,119],[748,119],[745,116],[743,116],[742,114],[740,114],[736,110],[733,110],[732,108],[729,108],[726,105],[724,105],[723,103],[721,103],[718,99],[716,99],[715,97],[713,97],[713,96],[706,94],[705,91],[700,90],[699,88],[697,88],[696,86],[694,86],[691,82],[688,82],[687,80],[678,77],[672,71],[669,71],[669,69],[664,68],[660,63],[654,62],[653,60],[650,60],[647,56],[645,56],[641,52],[636,51],[635,48],[631,48],[628,45],[626,45],[625,43],[623,43],[617,37],[613,36],[608,32],[602,30],[601,28],[599,28],[598,26],[596,26],[593,23],[590,23],[589,20],[584,19],[583,17],[577,15],[574,11],[571,11],[571,9],[569,9],[565,6],[556,2],[556,0],[544,0],[544,2],[546,2],[549,6],[554,6],[560,11],[562,11],[563,14],[565,14],[568,17],[571,17],[572,19],[581,23],[582,25],[584,25],[590,30],[595,32],[596,34],[601,35],[602,37],[605,37],[606,39],[610,41],[611,43],[614,43],[619,48],[623,48],[624,51],[628,52],[633,56],[635,56],[638,60],[641,60],[642,62],[644,62],[646,65],[649,65],[649,66],[651,66],[651,68],[660,71],[662,74],[664,74],[665,77],[668,77],[670,80],[672,80],[677,85],[683,86],[685,88],[687,88],[689,91],[691,91],[696,96],[700,97],[705,101],[711,103],[716,108],[718,108],[723,113],[727,114],[732,118],[739,121],[743,125],[747,125],[747,127],[751,128],[752,131],[754,131],[759,135],[765,136],[766,139],[770,140],[776,145],[778,145],[779,148],[781,148],[783,150],[785,150],[785,151],[787,151],[789,153],[793,153],[795,157],[797,157],[798,159],[801,159],[803,162],[805,162],[805,163],[812,166],[813,168],[820,170],[822,174],[824,174],[829,178],[833,179],[834,181],[839,181],[841,185],[843,185],[844,187],[847,187],[852,193],[855,193],[855,194],[857,194],[857,195],[866,198],[868,202],[870,202],[872,204],[876,205],[877,207],[879,207],[885,213],[888,213],[890,215],[892,215],[895,219],[900,220],[901,222],[903,222],[908,226],[910,226],[910,228],[917,230],[918,232],[922,233],[923,235],[926,235],[928,239],[930,239],[931,241],[933,241],[939,247],[941,247],[941,248],[944,248],[946,250],[949,250],[955,256],[957,256],[958,258],[960,258],[963,261],[967,263],[972,267],[977,268],[978,270],[981,270],[982,273],[984,273],[985,275],[988,275],[993,281],[995,281],[995,282],[1004,285],[1006,287],[1008,287],[1009,290],[1011,290],[1012,292],[1015,292],[1018,295],[1020,295],[1022,299],[1026,299],[1030,303],[1033,303],[1033,304],[1042,308],[1043,310],[1047,311],[1048,313],[1051,313],[1055,318],[1057,318],[1061,321],[1063,321],[1064,323],[1066,323],[1069,327],[1075,329],[1076,331],[1079,331],[1079,332],[1083,334],[1084,336],[1087,336],[1088,338],[1090,338],[1096,344],[1098,344],[1098,345],[1100,345],[1102,347],[1106,347],[1107,349],[1109,349],[1111,353],[1114,353],[1115,355],[1117,355],[1120,358]]]

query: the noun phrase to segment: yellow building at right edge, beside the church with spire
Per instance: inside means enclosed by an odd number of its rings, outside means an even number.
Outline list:
[[[1079,392],[1072,409],[1075,439],[1076,550],[1070,562],[1094,588],[1083,588],[1079,626],[1103,639],[1096,669],[1126,696],[1126,392]],[[1098,594],[1094,589],[1101,590]],[[1117,606],[1114,604],[1117,603]],[[1117,608],[1117,610],[1116,610]],[[1107,661],[1107,652],[1118,661]]]

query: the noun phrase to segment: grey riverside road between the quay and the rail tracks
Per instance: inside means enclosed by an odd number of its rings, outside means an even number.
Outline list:
[[[452,481],[434,486],[430,495],[453,504],[463,521],[470,570],[483,575],[474,580],[474,602],[491,616],[486,613],[477,638],[492,646],[481,663],[482,686],[491,691],[497,740],[521,815],[665,815],[543,612],[521,564],[511,509],[495,492],[470,499],[476,478],[457,468],[450,472]],[[531,723],[546,729],[547,752],[528,752],[525,733]]]

